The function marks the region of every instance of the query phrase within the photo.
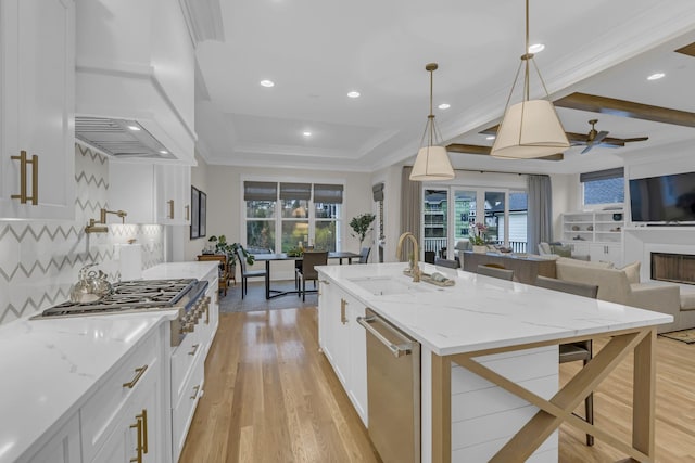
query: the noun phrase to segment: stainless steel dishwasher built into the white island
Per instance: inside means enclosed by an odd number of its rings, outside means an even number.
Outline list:
[[[384,463],[420,461],[420,344],[367,308],[369,437]]]

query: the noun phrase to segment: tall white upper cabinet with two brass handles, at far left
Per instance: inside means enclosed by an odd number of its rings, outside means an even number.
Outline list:
[[[73,219],[74,0],[2,0],[0,63],[0,219]]]

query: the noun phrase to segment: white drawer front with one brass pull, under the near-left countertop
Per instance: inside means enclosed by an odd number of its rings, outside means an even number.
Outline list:
[[[156,330],[102,382],[80,409],[84,461],[91,461],[112,434],[131,397],[152,382],[159,382],[161,346],[160,331]]]

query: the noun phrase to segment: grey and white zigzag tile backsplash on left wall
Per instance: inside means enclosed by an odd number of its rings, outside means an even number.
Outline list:
[[[164,261],[164,227],[109,224],[109,233],[85,233],[90,218],[109,208],[109,159],[75,145],[75,221],[0,222],[0,324],[68,299],[79,269],[98,263],[118,278],[117,244],[142,245],[142,268]]]

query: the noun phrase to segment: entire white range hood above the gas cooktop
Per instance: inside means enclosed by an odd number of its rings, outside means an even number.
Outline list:
[[[179,2],[76,5],[77,140],[115,158],[194,165],[194,54]]]

